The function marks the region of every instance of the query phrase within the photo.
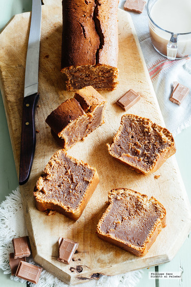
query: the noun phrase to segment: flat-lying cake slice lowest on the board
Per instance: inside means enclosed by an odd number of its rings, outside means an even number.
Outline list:
[[[97,225],[98,236],[137,256],[143,256],[166,226],[166,210],[154,197],[130,189],[108,193],[109,206]]]

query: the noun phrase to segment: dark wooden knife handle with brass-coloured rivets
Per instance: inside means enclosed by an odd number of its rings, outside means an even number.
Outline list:
[[[36,146],[35,108],[38,98],[39,94],[35,93],[23,100],[19,185],[28,181],[33,165]]]

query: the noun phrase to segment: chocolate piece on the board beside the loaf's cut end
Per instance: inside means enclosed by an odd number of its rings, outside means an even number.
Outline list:
[[[122,95],[116,103],[121,106],[125,111],[130,109],[136,102],[141,99],[140,95],[133,90],[129,90],[124,95]]]

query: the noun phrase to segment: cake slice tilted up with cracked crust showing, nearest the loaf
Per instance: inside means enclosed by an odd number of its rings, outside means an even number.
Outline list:
[[[91,86],[77,91],[47,117],[46,123],[67,150],[104,123],[106,100]]]

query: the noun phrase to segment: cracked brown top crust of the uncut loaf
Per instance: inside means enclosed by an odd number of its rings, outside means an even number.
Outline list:
[[[118,0],[63,0],[61,67],[118,61]]]

